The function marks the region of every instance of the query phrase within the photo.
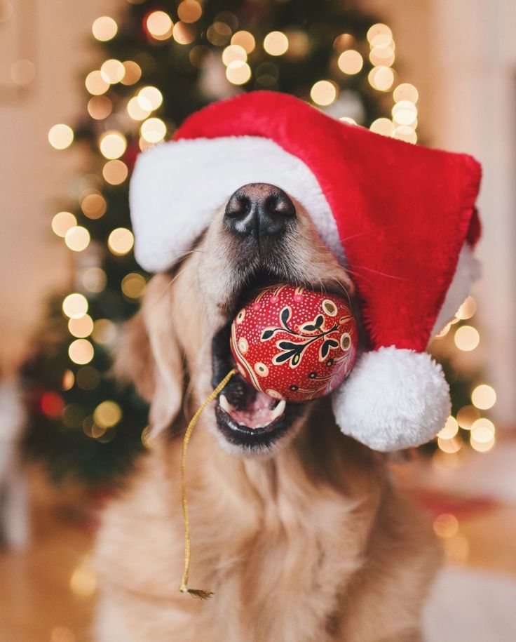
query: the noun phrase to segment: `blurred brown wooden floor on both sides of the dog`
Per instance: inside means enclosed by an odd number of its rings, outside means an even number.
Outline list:
[[[444,493],[439,483],[418,486],[407,481],[407,476],[414,479],[410,466],[399,476],[433,516],[435,532],[452,566],[501,571],[516,580],[516,502],[510,497],[500,502],[489,495],[454,492],[449,479],[451,494]],[[417,479],[424,478],[419,471]],[[56,503],[39,497],[32,546],[25,552],[0,553],[2,642],[91,642],[97,587],[88,558],[95,523],[88,509],[70,511],[70,506],[82,505],[72,500],[61,498]],[[509,640],[501,637],[489,642]]]

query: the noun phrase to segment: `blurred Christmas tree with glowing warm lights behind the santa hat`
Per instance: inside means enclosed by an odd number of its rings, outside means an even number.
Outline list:
[[[145,441],[146,406],[109,375],[118,325],[149,276],[131,251],[137,154],[208,102],[254,89],[416,142],[418,93],[398,81],[391,29],[346,0],[129,0],[92,31],[102,58],[86,76],[83,119],[48,135],[56,149],[88,150],[76,202],[52,220],[75,255],[74,291],[51,303],[24,375],[27,452],[55,481],[95,485],[123,474]]]

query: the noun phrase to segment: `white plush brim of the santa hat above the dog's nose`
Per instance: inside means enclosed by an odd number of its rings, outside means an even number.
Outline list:
[[[250,182],[271,183],[297,199],[343,260],[332,210],[308,166],[272,140],[238,136],[165,142],[138,156],[130,184],[137,262],[149,272],[174,265],[215,211]]]

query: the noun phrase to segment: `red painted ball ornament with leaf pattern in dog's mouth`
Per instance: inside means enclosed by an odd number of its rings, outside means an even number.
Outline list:
[[[257,390],[286,401],[330,394],[351,372],[357,342],[343,297],[292,283],[259,290],[231,325],[240,374]]]

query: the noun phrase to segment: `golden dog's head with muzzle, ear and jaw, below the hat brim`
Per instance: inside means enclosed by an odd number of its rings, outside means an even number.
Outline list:
[[[183,399],[189,410],[201,403],[234,367],[233,316],[254,288],[282,281],[353,294],[309,213],[278,187],[244,185],[175,269],[151,280],[118,351],[118,373],[151,402],[152,431],[172,424]],[[235,375],[204,423],[233,453],[271,453],[299,432],[310,406],[273,400]]]

